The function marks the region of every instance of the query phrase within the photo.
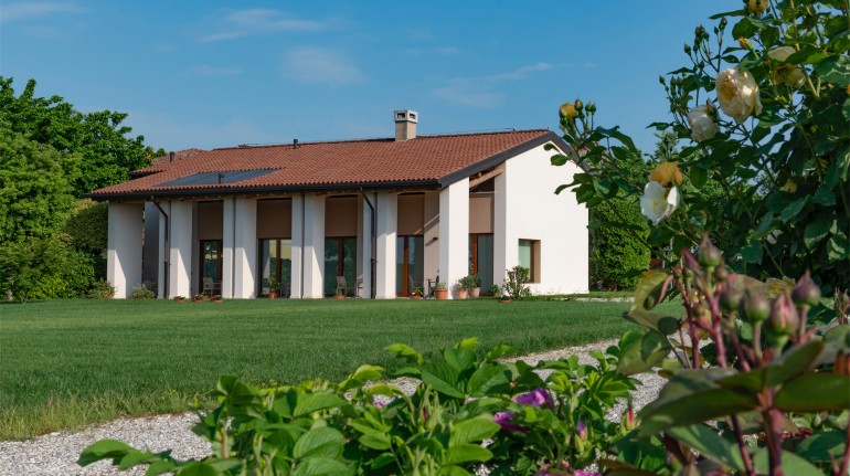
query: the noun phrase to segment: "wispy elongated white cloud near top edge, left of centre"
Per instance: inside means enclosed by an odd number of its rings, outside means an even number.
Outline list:
[[[285,13],[270,9],[249,9],[234,11],[221,20],[215,33],[198,38],[201,43],[235,40],[249,34],[268,34],[275,32],[321,31],[327,24],[287,17]]]

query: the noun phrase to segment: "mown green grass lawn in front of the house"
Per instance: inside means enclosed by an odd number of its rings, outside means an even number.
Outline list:
[[[518,353],[633,328],[624,303],[436,300],[51,300],[0,305],[0,440],[121,415],[184,411],[220,374],[294,383],[339,380],[362,363],[401,362],[467,337]]]

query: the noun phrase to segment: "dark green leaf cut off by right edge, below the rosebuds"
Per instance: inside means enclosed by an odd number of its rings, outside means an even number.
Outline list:
[[[817,389],[817,391],[812,391]],[[850,377],[835,373],[808,373],[786,383],[774,405],[786,412],[840,412],[850,409]]]

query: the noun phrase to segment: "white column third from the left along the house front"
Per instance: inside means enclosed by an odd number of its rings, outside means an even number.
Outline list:
[[[257,201],[236,198],[233,246],[233,297],[256,296]]]

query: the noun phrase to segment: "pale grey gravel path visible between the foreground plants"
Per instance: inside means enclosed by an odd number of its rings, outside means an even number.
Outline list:
[[[587,355],[591,350],[604,351],[615,341],[602,341],[584,347],[567,347],[550,352],[533,353],[512,360],[522,359],[534,364],[539,360],[552,360],[573,355],[580,356],[583,363],[595,360]],[[635,395],[635,408],[639,409],[656,398],[665,380],[656,374],[639,375],[644,385]],[[393,382],[407,393],[412,393],[412,381]],[[625,405],[615,409],[609,415],[619,419]],[[140,468],[119,473],[109,462],[99,462],[81,468],[76,461],[79,453],[92,443],[113,438],[137,448],[152,452],[173,449],[177,459],[202,458],[211,453],[210,444],[190,431],[196,422],[192,413],[179,415],[159,415],[151,417],[121,419],[85,431],[71,433],[57,432],[40,436],[28,442],[0,442],[0,475],[144,475]]]

